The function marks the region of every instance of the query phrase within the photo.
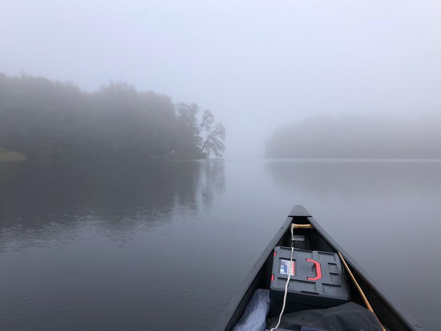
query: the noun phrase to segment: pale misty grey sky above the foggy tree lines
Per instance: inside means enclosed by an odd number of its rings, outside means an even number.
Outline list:
[[[0,72],[209,108],[225,157],[309,115],[441,111],[441,1],[0,0]]]

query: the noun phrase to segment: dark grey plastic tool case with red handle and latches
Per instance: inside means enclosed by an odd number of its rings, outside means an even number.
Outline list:
[[[291,248],[275,248],[270,285],[273,302],[283,301],[289,272],[287,304],[332,307],[349,301],[349,289],[337,254],[294,249],[292,264],[290,258]]]

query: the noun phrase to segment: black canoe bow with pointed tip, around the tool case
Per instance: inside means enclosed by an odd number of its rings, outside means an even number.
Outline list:
[[[423,331],[423,329],[407,314],[403,308],[391,299],[381,288],[369,278],[367,272],[350,257],[331,237],[326,233],[319,223],[302,206],[295,206],[289,214],[287,220],[277,231],[277,234],[268,244],[266,249],[257,259],[250,272],[246,275],[242,284],[233,294],[230,302],[222,313],[213,331],[230,331],[242,316],[251,295],[258,288],[268,289],[273,263],[273,250],[276,246],[288,246],[291,240],[290,225],[311,224],[312,229],[296,229],[295,234],[304,235],[311,250],[340,252],[345,258],[349,268],[354,274],[358,284],[368,298],[378,319],[383,325],[392,331],[413,330]],[[354,283],[348,279],[351,292],[351,301],[363,304],[361,296],[358,294]]]

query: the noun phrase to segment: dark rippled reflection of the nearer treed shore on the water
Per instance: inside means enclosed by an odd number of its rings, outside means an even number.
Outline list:
[[[209,211],[224,185],[221,160],[2,163],[0,253],[63,247],[85,233],[124,243],[177,210]]]

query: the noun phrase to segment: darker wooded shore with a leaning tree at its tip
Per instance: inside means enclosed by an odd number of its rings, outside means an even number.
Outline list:
[[[210,110],[126,82],[86,92],[0,73],[0,159],[221,157],[224,139]]]

